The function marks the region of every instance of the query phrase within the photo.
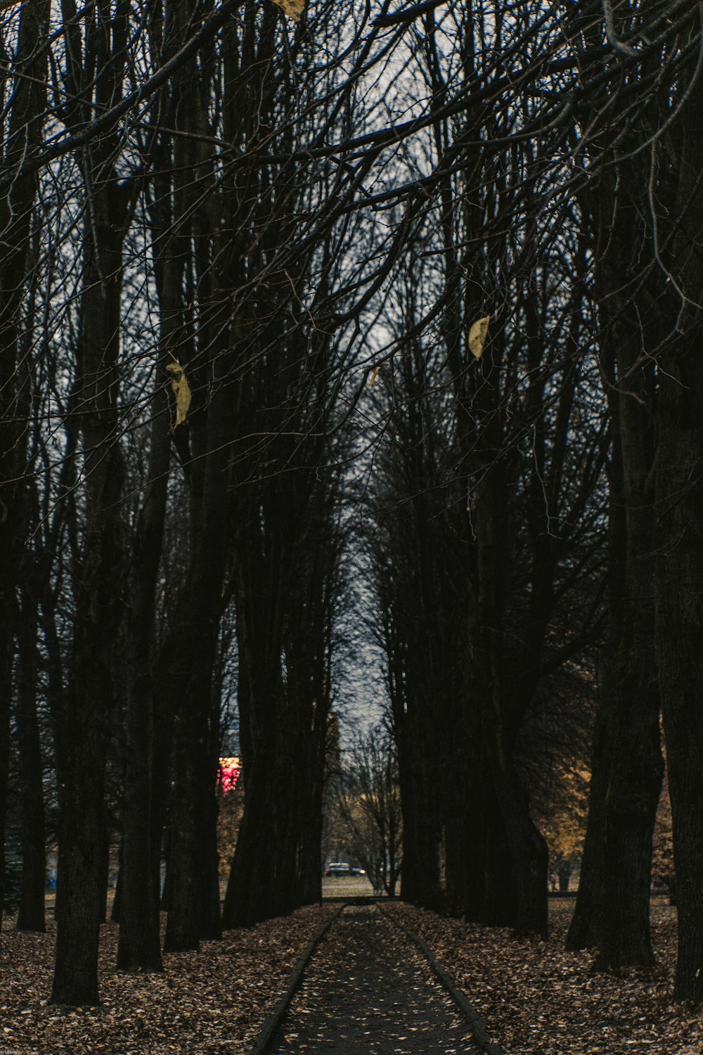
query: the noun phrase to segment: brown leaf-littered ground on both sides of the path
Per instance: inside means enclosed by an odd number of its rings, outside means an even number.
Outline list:
[[[676,912],[652,902],[658,966],[594,975],[590,953],[565,953],[572,901],[550,902],[547,942],[388,906],[421,935],[508,1055],[700,1055],[703,1019],[671,1002]],[[97,1009],[48,1004],[54,937],[0,935],[0,1050],[7,1055],[248,1053],[304,948],[335,905],[304,908],[165,957],[163,975],[119,975],[117,927],[101,934]],[[312,964],[311,964],[312,967]],[[314,1049],[311,1049],[313,1051]],[[428,1053],[434,1055],[434,1053]]]

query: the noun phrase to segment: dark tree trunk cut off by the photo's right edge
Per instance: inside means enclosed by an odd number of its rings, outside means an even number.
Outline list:
[[[657,406],[657,661],[679,920],[675,996],[703,1001],[703,80],[679,124],[671,266],[688,298],[662,357]],[[692,235],[692,236],[691,236]]]

